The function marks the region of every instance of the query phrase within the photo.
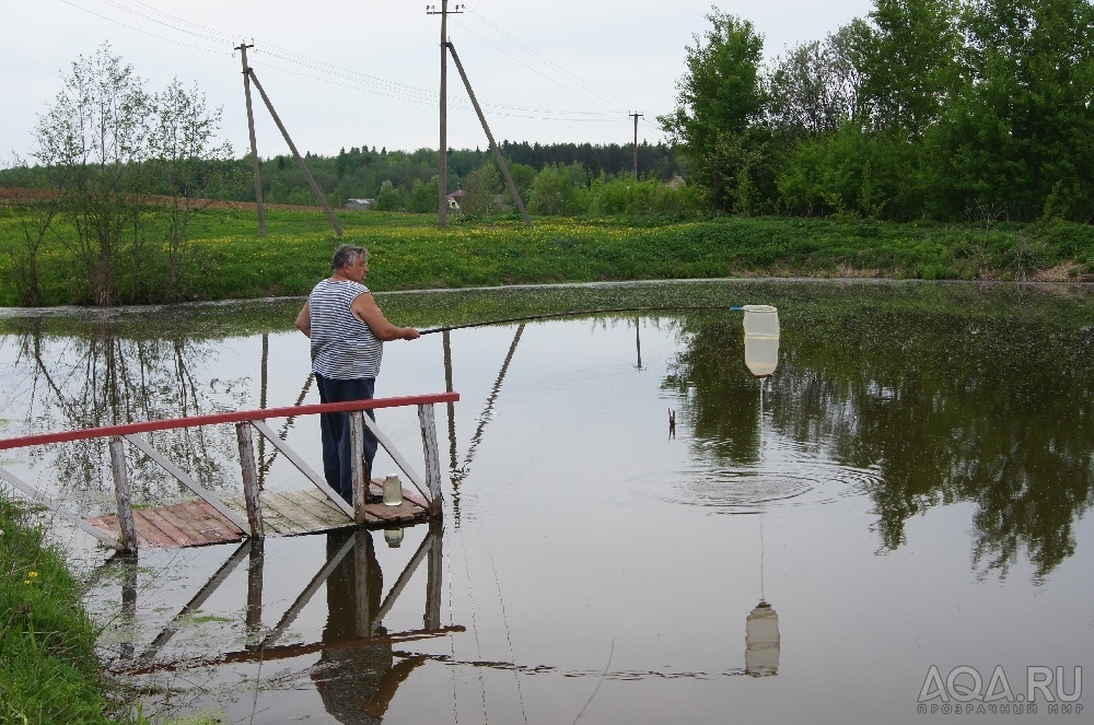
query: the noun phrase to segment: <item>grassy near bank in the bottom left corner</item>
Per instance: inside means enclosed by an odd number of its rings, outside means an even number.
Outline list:
[[[104,694],[95,635],[65,562],[0,491],[0,723],[137,722]]]

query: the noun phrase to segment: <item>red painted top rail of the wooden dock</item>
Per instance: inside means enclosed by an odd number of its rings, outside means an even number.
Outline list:
[[[208,416],[191,416],[188,418],[168,418],[150,420],[141,423],[125,423],[121,425],[104,425],[102,428],[85,428],[75,431],[57,433],[38,433],[15,438],[0,438],[0,451],[22,448],[28,445],[45,443],[67,443],[70,441],[86,441],[90,438],[109,437],[113,435],[129,435],[132,433],[151,433],[167,431],[175,428],[191,428],[214,423],[242,423],[251,420],[268,418],[294,418],[315,413],[348,412],[352,410],[373,410],[376,408],[395,408],[398,406],[423,406],[433,402],[455,402],[459,400],[458,393],[434,393],[431,395],[411,395],[400,398],[374,398],[372,400],[350,400],[347,402],[325,402],[310,406],[290,406],[287,408],[263,408],[260,410],[237,410],[228,413],[211,413]]]

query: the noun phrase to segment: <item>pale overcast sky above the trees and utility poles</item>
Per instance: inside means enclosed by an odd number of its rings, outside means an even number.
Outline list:
[[[342,147],[414,150],[439,143],[440,17],[405,0],[0,0],[0,162],[35,148],[34,127],[60,74],[109,42],[149,90],[197,83],[223,109],[221,133],[247,151],[241,60],[252,68],[301,152]],[[440,8],[440,0],[434,0]],[[452,10],[456,3],[450,3]],[[753,22],[765,55],[821,39],[870,11],[870,0],[714,3]],[[709,23],[709,0],[467,0],[449,39],[499,141],[628,143],[663,138],[685,46]],[[288,147],[257,93],[258,153]],[[486,136],[449,61],[449,145]]]

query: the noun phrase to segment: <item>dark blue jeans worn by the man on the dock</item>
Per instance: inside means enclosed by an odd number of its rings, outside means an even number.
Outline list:
[[[315,374],[319,388],[319,402],[345,402],[347,400],[371,400],[376,387],[376,378],[364,377],[338,381]],[[373,421],[376,417],[365,410]],[[364,451],[354,454],[350,445],[349,413],[319,413],[319,433],[323,437],[323,475],[327,486],[338,492],[348,503],[353,503],[353,456],[364,460],[365,481],[372,478],[372,461],[376,457],[380,443],[364,430]],[[368,494],[368,489],[365,489]]]

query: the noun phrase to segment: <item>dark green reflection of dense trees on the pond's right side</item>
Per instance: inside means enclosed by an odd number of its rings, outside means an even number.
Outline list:
[[[1026,549],[1043,577],[1074,551],[1094,504],[1094,332],[969,315],[892,309],[783,315],[770,424],[838,463],[880,471],[869,493],[882,546],[927,508],[971,502],[974,566],[1005,575]],[[733,321],[690,329],[666,385],[713,455],[756,460],[758,386]],[[709,446],[703,446],[709,447]]]

